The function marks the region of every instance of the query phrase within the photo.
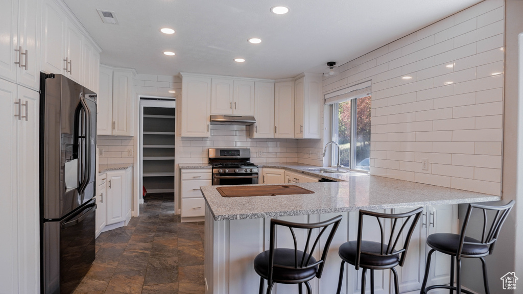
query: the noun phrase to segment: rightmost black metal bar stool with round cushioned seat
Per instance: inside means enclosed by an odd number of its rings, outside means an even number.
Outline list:
[[[432,289],[449,289],[450,293],[456,291],[457,294],[460,294],[461,292],[473,294],[471,291],[461,289],[460,275],[462,257],[480,258],[483,265],[483,286],[485,287],[485,293],[490,293],[490,290],[488,289],[487,269],[485,259],[483,257],[492,254],[497,236],[499,235],[499,231],[501,230],[508,213],[514,206],[514,203],[515,201],[511,200],[504,206],[469,204],[469,208],[467,209],[467,214],[463,220],[463,226],[461,227],[460,234],[436,233],[429,235],[427,237],[427,245],[429,245],[432,249],[428,253],[427,264],[425,266],[425,276],[423,277],[422,290],[420,291],[420,294],[425,294],[427,291]],[[481,210],[483,214],[483,230],[481,241],[469,236],[465,236],[465,233],[467,232],[467,226],[474,209]],[[488,221],[488,210],[495,211],[495,216],[491,221]],[[449,286],[433,285],[426,287],[427,277],[430,270],[430,257],[434,251],[445,253],[451,256]],[[456,259],[456,286],[454,286],[454,259]]]

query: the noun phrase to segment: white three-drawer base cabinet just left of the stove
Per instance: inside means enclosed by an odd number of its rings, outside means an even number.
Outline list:
[[[201,221],[205,214],[205,199],[200,186],[212,185],[210,168],[180,169],[181,221]]]

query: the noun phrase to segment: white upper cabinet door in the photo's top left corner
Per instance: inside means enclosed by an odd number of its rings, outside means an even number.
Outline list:
[[[18,0],[2,1],[0,9],[0,76],[6,80],[16,81],[18,71],[19,52],[17,42],[18,33]]]

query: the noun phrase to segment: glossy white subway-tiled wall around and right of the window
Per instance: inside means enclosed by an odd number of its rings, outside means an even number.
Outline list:
[[[323,81],[372,82],[371,174],[501,195],[504,9],[486,0]]]

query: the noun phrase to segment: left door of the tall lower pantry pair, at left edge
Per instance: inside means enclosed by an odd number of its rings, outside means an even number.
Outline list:
[[[1,20],[0,20],[1,21]],[[0,136],[5,140],[0,144],[0,185],[2,186],[2,205],[0,205],[0,285],[2,292],[18,292],[18,230],[17,230],[17,125],[19,112],[16,85],[0,79]],[[38,198],[38,197],[37,197]]]

